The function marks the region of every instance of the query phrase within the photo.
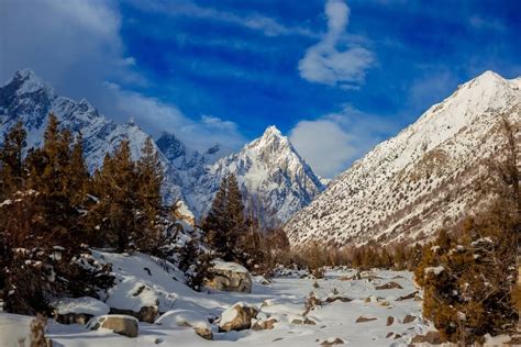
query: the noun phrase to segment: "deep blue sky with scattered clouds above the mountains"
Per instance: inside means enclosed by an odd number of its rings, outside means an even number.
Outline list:
[[[520,76],[520,12],[519,1],[5,0],[0,78],[33,68],[198,149],[235,149],[275,124],[333,177],[457,85],[487,69]]]

